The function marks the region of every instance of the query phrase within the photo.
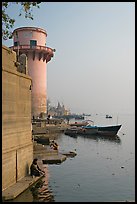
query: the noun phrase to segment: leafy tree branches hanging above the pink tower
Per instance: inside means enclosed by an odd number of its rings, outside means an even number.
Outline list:
[[[11,28],[13,28],[15,19],[11,18],[6,10],[11,4],[20,4],[21,10],[19,16],[22,15],[22,11],[25,14],[25,18],[33,20],[32,8],[39,8],[41,2],[2,2],[2,38],[4,40],[12,38]]]

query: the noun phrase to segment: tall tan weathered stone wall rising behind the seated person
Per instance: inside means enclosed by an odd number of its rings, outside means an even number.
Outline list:
[[[16,53],[2,46],[2,190],[27,175],[33,160],[31,78],[15,62]]]

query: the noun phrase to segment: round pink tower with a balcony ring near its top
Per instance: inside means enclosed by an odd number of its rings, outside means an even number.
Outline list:
[[[47,33],[37,27],[21,27],[13,31],[11,48],[28,59],[28,74],[32,78],[32,116],[47,113],[47,62],[55,49],[46,47]]]

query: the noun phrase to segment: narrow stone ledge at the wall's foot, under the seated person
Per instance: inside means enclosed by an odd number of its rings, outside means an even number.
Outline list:
[[[8,187],[2,192],[2,200],[6,201],[6,200],[15,199],[18,195],[20,195],[25,190],[27,190],[30,186],[32,186],[34,183],[39,181],[42,177],[43,175],[39,177],[34,177],[34,178],[32,178],[32,176],[26,176],[22,178],[17,183]]]

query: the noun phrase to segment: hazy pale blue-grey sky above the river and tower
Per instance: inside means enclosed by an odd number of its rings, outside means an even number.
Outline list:
[[[59,101],[75,113],[134,113],[134,2],[43,2],[33,21],[18,17],[19,9],[8,9],[13,30],[41,27],[47,46],[56,49],[47,64],[52,105]]]

